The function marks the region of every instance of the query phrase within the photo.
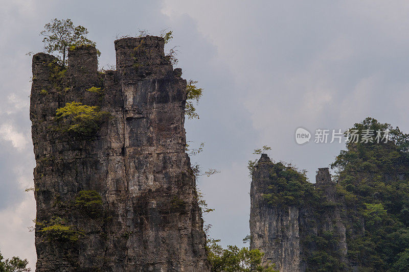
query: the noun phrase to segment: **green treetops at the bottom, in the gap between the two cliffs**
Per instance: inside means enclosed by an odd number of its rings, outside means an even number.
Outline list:
[[[239,248],[236,245],[228,245],[223,249],[217,242],[209,240],[207,251],[211,272],[277,272],[274,264],[261,264],[264,253],[259,250]]]

